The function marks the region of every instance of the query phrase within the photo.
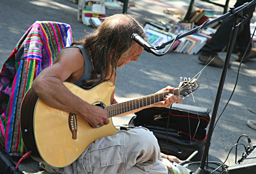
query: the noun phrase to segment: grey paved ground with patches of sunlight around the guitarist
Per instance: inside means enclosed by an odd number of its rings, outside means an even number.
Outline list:
[[[219,0],[220,1],[220,0]],[[230,0],[233,5],[236,0]],[[140,22],[163,20],[169,21],[172,16],[164,14],[163,10],[167,6],[186,9],[189,0],[137,0],[136,6],[131,7],[128,14],[134,15]],[[164,3],[164,4],[161,4]],[[196,0],[196,6],[214,8],[222,11],[208,3]],[[121,11],[107,11],[107,15],[120,13]],[[255,16],[254,16],[255,17]],[[252,22],[255,22],[253,17]],[[91,27],[83,25],[76,20],[77,5],[68,0],[2,0],[0,1],[0,67],[15,48],[18,40],[26,30],[36,20],[52,20],[65,22],[71,25],[76,40],[84,36],[84,30],[90,32]],[[225,52],[220,53],[221,58],[225,58]],[[224,89],[219,104],[218,115],[224,109],[234,84],[236,82],[239,63],[235,61],[236,55],[231,57],[232,67],[227,72]],[[171,85],[177,87],[179,78],[193,77],[204,65],[198,61],[198,55],[186,55],[178,53],[168,53],[163,57],[156,57],[147,52],[143,52],[140,59],[134,64],[128,64],[118,70],[116,95],[119,97],[144,96],[155,93],[157,90]],[[204,89],[195,92],[195,103],[192,98],[186,98],[183,104],[196,105],[213,109],[216,92],[221,76],[221,69],[207,67],[200,76],[199,82]],[[256,115],[248,108],[256,112],[256,60],[250,60],[241,65],[239,80],[230,101],[221,116],[218,125],[212,135],[209,160],[224,161],[233,144],[236,143],[240,135],[246,134],[256,143],[256,130],[247,126],[248,119],[256,119]],[[217,116],[218,116],[217,115]],[[115,118],[115,124],[127,124],[133,115]],[[246,144],[244,138],[241,142]],[[239,147],[239,155],[244,151]],[[227,165],[234,164],[234,151],[231,152]],[[17,161],[17,158],[14,158]],[[20,170],[28,171],[38,168],[38,163],[34,160],[25,159],[20,164]]]

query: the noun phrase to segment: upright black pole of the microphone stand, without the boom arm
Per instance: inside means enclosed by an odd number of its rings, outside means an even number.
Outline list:
[[[230,10],[231,11],[234,10],[234,7],[230,7]],[[219,83],[219,86],[218,86],[217,95],[216,95],[216,98],[215,98],[215,104],[214,104],[214,107],[213,107],[213,110],[212,110],[212,117],[211,117],[211,122],[210,122],[210,125],[209,125],[207,138],[206,138],[205,145],[204,145],[204,152],[203,152],[203,155],[202,155],[202,160],[201,160],[200,167],[198,168],[197,171],[195,171],[195,174],[209,174],[209,171],[204,169],[204,166],[205,166],[205,162],[206,162],[206,159],[207,159],[207,155],[209,153],[209,147],[210,147],[210,144],[211,144],[211,138],[212,138],[213,128],[214,128],[214,124],[215,124],[215,118],[216,118],[217,111],[218,111],[218,105],[219,105],[219,102],[221,100],[221,93],[222,93],[222,90],[223,90],[224,81],[225,81],[226,74],[227,74],[227,68],[228,68],[231,53],[232,53],[232,50],[233,50],[233,45],[234,45],[234,42],[236,40],[236,35],[237,35],[238,28],[239,28],[238,24],[239,24],[239,21],[241,20],[241,16],[242,16],[242,10],[235,14],[235,22],[234,22],[232,32],[231,32],[231,35],[230,35],[230,42],[229,42],[229,45],[228,45],[228,48],[227,48],[227,55],[226,55],[226,59],[225,59],[225,62],[224,62],[224,67],[223,67],[223,70],[222,70],[222,73],[221,73],[221,79],[220,79],[220,83]]]

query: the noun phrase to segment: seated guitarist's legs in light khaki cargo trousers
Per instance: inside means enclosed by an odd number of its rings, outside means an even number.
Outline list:
[[[131,171],[139,168],[143,172],[153,168],[160,157],[160,148],[153,133],[148,129],[135,128],[96,140],[73,166],[79,174],[119,174],[132,167],[136,168]],[[166,167],[154,168],[160,168],[161,174]]]

